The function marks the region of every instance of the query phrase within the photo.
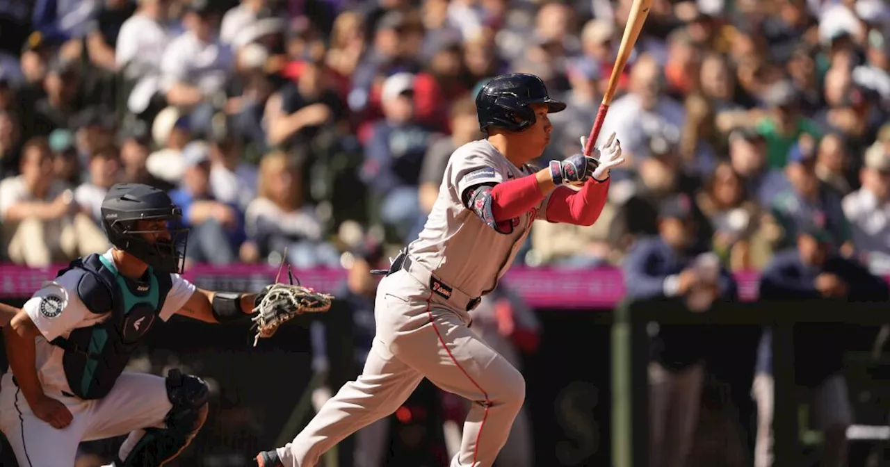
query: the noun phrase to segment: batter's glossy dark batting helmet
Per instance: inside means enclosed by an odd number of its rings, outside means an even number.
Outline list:
[[[565,103],[554,101],[547,95],[544,81],[527,73],[511,73],[495,76],[476,95],[476,115],[479,128],[489,126],[504,128],[509,132],[522,132],[535,125],[535,112],[530,104],[547,104],[547,112],[561,112]]]

